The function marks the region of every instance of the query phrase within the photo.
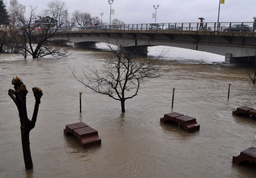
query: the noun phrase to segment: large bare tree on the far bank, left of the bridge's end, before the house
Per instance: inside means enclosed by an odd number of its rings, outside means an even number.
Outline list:
[[[40,23],[35,21],[38,16],[35,14],[36,8],[31,7],[30,16],[24,17],[23,14],[16,14],[19,24],[19,33],[17,34],[16,47],[26,58],[29,53],[33,59],[52,55],[53,57],[67,56],[67,50],[62,46],[52,46],[53,35],[57,32],[62,23],[56,24],[52,17],[40,18]],[[56,12],[58,13],[58,12]],[[39,20],[38,20],[39,21]],[[37,31],[39,26],[41,30]],[[43,27],[42,27],[43,26]]]

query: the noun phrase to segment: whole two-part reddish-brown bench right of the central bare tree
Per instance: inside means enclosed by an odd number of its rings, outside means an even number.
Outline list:
[[[160,118],[160,122],[162,123],[167,121],[182,126],[187,132],[197,131],[200,129],[200,125],[196,122],[196,118],[184,116],[178,112],[167,113],[163,118]]]

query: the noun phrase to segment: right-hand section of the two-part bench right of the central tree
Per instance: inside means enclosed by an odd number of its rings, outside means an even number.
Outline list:
[[[190,116],[179,116],[175,118],[175,122],[179,123],[185,131],[192,132],[200,129],[200,125],[196,122],[196,118]]]

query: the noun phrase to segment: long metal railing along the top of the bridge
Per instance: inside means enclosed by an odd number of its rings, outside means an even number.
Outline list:
[[[204,22],[199,23],[140,23],[97,25],[84,27],[62,27],[58,32],[78,32],[86,30],[203,30],[203,31],[237,31],[256,32],[256,23],[253,22]]]

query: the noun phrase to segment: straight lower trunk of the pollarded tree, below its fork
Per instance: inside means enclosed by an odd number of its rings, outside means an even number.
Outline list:
[[[21,135],[22,135],[22,150],[23,150],[23,158],[25,162],[26,169],[33,168],[33,162],[30,152],[30,142],[29,142],[29,132],[26,131],[26,129],[22,128],[20,129]]]

